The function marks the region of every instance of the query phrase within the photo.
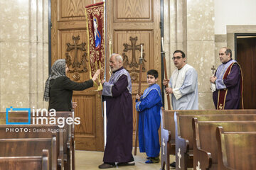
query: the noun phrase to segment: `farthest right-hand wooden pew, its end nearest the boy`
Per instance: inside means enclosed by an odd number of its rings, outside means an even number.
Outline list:
[[[178,112],[180,115],[216,115],[223,114],[220,110],[186,110],[186,111],[175,111],[175,110],[164,110],[162,108],[162,122],[161,128],[161,145],[164,142],[165,154],[161,149],[161,169],[169,170],[169,154],[175,154],[175,125],[174,125],[174,113]],[[225,110],[225,114],[255,114],[256,111],[249,110]],[[192,128],[192,127],[191,127]],[[162,130],[163,129],[163,130]],[[163,132],[163,133],[162,133]],[[168,140],[167,140],[168,139]],[[164,166],[165,165],[165,166]]]

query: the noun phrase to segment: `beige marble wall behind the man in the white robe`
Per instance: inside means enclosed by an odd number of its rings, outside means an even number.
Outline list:
[[[183,50],[198,72],[199,109],[213,109],[209,79],[215,65],[214,1],[164,0],[164,35],[169,76],[176,69],[172,53]]]

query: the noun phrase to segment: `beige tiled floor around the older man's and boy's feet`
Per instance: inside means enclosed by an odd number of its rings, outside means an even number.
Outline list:
[[[134,152],[132,152],[134,153]],[[102,164],[103,152],[92,152],[92,151],[75,151],[75,169],[98,169],[98,166]],[[134,156],[135,166],[119,166],[112,169],[122,169],[122,170],[152,170],[160,169],[161,163],[158,164],[145,164],[146,154],[138,153]]]

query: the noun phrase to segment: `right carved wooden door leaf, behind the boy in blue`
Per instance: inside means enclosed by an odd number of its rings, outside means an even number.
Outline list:
[[[132,78],[135,135],[135,96],[138,93],[141,44],[143,44],[143,56],[146,60],[143,62],[142,92],[148,87],[146,72],[149,69],[156,69],[159,72],[158,83],[161,83],[160,0],[110,0],[106,5],[107,41],[110,42],[111,39],[112,42],[112,47],[107,49],[122,55],[124,67]],[[107,54],[110,57],[110,50]],[[109,74],[107,76],[109,77]]]

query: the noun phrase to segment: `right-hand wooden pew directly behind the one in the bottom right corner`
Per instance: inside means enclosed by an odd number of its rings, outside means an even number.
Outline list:
[[[216,128],[225,132],[256,131],[256,121],[198,121],[193,118],[193,169],[218,169]]]

